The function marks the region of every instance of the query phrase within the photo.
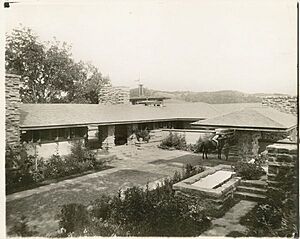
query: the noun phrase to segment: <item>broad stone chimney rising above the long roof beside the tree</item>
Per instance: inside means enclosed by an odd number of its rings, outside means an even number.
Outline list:
[[[129,104],[129,88],[106,84],[99,91],[99,104]]]

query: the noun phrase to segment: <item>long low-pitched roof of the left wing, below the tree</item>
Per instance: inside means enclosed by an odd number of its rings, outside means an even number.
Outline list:
[[[219,114],[207,103],[169,104],[165,107],[97,104],[21,104],[22,128],[149,122],[211,118]]]

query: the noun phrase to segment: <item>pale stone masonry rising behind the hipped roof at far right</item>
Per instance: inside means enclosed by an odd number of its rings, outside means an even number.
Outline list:
[[[281,112],[297,115],[297,97],[296,96],[269,96],[262,100],[263,106],[272,107]]]

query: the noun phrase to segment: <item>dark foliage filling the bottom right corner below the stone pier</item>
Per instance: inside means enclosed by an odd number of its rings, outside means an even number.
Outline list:
[[[248,236],[292,237],[297,232],[297,172],[281,170],[276,187],[269,187],[266,200],[258,204],[241,223],[249,228]]]

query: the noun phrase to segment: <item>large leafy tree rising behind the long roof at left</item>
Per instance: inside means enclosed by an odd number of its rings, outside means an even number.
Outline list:
[[[76,63],[70,51],[55,38],[41,42],[29,28],[6,36],[5,68],[21,76],[22,102],[98,103],[97,91],[109,79],[91,64]]]

